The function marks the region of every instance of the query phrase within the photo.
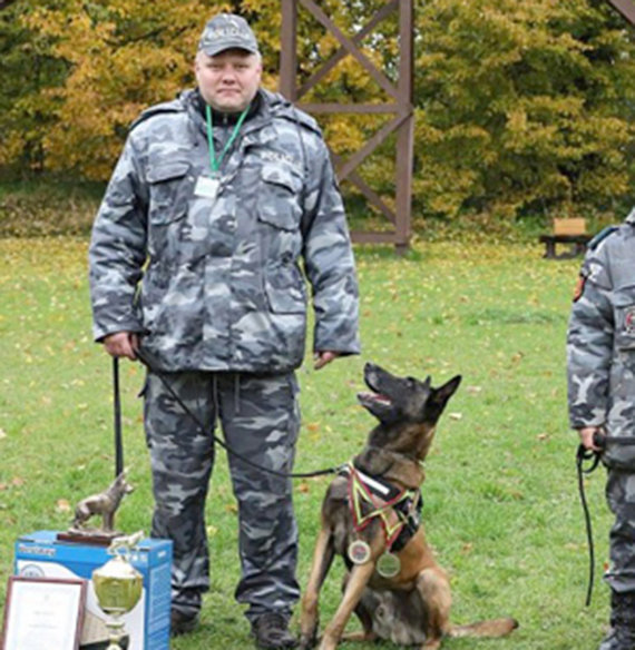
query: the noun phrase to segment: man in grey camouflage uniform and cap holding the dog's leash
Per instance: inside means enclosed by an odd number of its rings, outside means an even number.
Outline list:
[[[196,89],[133,125],[89,252],[96,339],[114,356],[152,360],[153,535],[174,543],[173,633],[194,629],[208,589],[204,508],[216,422],[246,459],[293,467],[306,280],[315,367],[359,353],[350,236],[319,127],[260,87],[256,39],[241,17],[218,14],[205,26],[195,71]],[[236,598],[248,604],[260,647],[292,647],[291,482],[232,454],[229,467],[240,514]]]

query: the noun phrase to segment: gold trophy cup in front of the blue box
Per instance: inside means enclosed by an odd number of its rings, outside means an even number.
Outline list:
[[[108,553],[114,555],[104,567],[92,572],[92,585],[101,610],[108,615],[106,627],[110,634],[107,650],[123,650],[125,636],[121,617],[131,611],[141,597],[144,579],[130,564],[130,551],[143,539],[141,531],[113,540]]]

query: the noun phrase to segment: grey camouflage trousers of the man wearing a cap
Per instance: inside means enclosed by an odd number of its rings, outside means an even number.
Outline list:
[[[204,424],[185,413],[160,377],[149,373],[145,427],[155,512],[153,536],[173,541],[173,608],[196,613],[209,588],[205,501],[214,465],[212,431],[219,422],[238,454],[277,472],[291,472],[300,430],[293,373],[163,373],[165,382]],[[297,526],[291,480],[228,454],[238,505],[241,580],[235,597],[253,620],[265,611],[289,615],[297,601]]]

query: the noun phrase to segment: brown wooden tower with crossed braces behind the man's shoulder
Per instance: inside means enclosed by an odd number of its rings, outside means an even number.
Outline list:
[[[340,49],[325,61],[312,77],[297,85],[297,9],[302,6],[340,43]],[[399,14],[399,69],[393,82],[360,50],[361,41],[391,13]],[[412,106],[413,69],[413,0],[388,0],[368,24],[349,38],[324,13],[314,0],[282,0],[280,90],[291,101],[310,114],[388,114],[394,117],[374,134],[364,146],[344,160],[333,156],[340,180],[354,184],[381,214],[392,224],[385,232],[352,232],[353,242],[390,243],[398,250],[408,247],[411,234],[412,149],[414,116]],[[314,88],[346,56],[354,57],[371,78],[390,97],[388,104],[303,104],[302,97]],[[397,134],[395,151],[395,207],[394,210],[374,191],[355,169],[391,135]]]

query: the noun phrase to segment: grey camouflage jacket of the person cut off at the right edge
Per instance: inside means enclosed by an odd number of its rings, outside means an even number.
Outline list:
[[[635,210],[589,245],[567,336],[569,421],[635,435]],[[635,446],[609,445],[607,465],[635,469]]]

